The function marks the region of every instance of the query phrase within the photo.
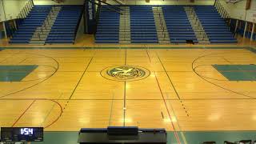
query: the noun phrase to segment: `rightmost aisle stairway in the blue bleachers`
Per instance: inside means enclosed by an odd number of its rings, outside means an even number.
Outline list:
[[[198,19],[198,16],[195,13],[194,8],[191,6],[184,6],[184,10],[186,11],[186,15],[190,20],[190,24],[194,30],[196,38],[198,39],[198,43],[210,44],[206,31],[203,29],[202,23]]]

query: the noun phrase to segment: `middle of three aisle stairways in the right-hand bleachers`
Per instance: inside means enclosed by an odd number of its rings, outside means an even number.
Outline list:
[[[162,7],[152,7],[154,22],[158,33],[158,42],[160,44],[170,43],[170,36],[167,30],[166,21],[162,13]]]

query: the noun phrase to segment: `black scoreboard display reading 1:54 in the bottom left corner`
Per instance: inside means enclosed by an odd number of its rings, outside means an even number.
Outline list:
[[[42,142],[42,127],[1,127],[0,142]]]

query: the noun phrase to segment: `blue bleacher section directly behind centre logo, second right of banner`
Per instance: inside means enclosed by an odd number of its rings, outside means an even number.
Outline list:
[[[158,43],[152,6],[130,6],[131,43]]]

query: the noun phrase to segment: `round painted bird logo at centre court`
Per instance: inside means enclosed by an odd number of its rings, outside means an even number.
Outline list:
[[[140,66],[111,66],[102,70],[104,78],[116,81],[136,81],[149,75],[150,71]]]

